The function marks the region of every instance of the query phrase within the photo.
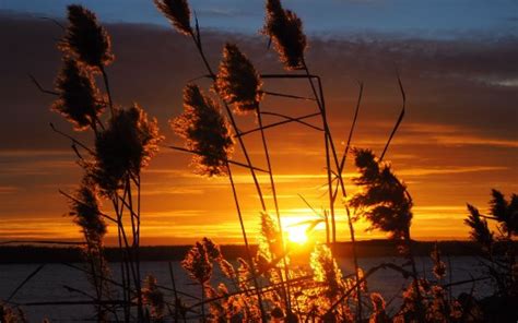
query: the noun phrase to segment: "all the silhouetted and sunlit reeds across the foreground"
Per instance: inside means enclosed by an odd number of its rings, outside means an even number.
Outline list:
[[[361,109],[363,85],[355,115],[343,152],[339,151],[328,123],[326,101],[320,77],[310,72],[305,60],[307,39],[302,21],[285,10],[279,0],[269,0],[266,5],[266,24],[262,29],[269,44],[279,53],[286,73],[260,74],[252,62],[234,44],[223,48],[217,70],[209,64],[203,50],[198,20],[191,24],[191,11],[185,0],[155,0],[157,9],[173,27],[190,37],[193,48],[207,68],[207,79],[212,81],[210,91],[190,83],[184,89],[184,112],[169,123],[185,139],[184,147],[166,146],[193,155],[192,166],[200,176],[228,178],[228,187],[235,199],[237,220],[243,234],[245,253],[232,263],[225,259],[220,247],[203,238],[187,252],[181,262],[184,270],[199,286],[199,295],[185,296],[177,289],[173,271],[173,288],[164,289],[153,276],[142,277],[140,224],[141,224],[141,172],[164,137],[157,121],[150,118],[138,105],[119,107],[111,98],[111,87],[105,68],[114,62],[110,39],[95,14],[81,5],[68,8],[69,24],[59,41],[63,67],[56,81],[56,89],[44,92],[56,96],[52,110],[67,118],[75,131],[89,132],[92,146],[76,140],[66,131],[52,125],[52,130],[72,143],[78,165],[83,170],[80,187],[73,192],[61,192],[70,202],[70,215],[84,236],[82,255],[93,294],[75,292],[86,297],[83,303],[91,304],[98,322],[164,322],[196,320],[201,322],[515,322],[517,311],[508,304],[517,303],[518,267],[515,243],[518,234],[518,196],[509,200],[492,192],[491,214],[483,215],[469,205],[466,223],[471,228],[472,239],[483,247],[481,256],[486,265],[494,295],[476,300],[473,295],[454,297],[445,283],[447,266],[439,248],[431,254],[434,279],[420,275],[415,263],[415,244],[411,238],[412,196],[392,171],[385,156],[405,113],[405,93],[398,76],[402,94],[402,108],[387,144],[379,156],[370,149],[352,148],[351,142]],[[291,94],[266,92],[263,82],[274,80],[306,80],[310,98]],[[104,91],[97,86],[104,84]],[[328,205],[319,223],[326,225],[327,241],[315,246],[307,266],[293,265],[292,250],[285,242],[282,214],[279,211],[275,176],[270,160],[266,129],[282,127],[289,122],[305,125],[308,116],[290,117],[274,112],[282,121],[263,124],[261,100],[266,95],[285,99],[309,99],[315,104],[320,127],[309,125],[322,135],[322,155],[326,157]],[[236,115],[256,118],[258,128],[239,131]],[[315,129],[316,128],[316,129]],[[244,136],[260,132],[267,169],[255,166]],[[245,160],[232,158],[239,151]],[[349,195],[345,190],[344,168],[353,157],[360,176],[354,179],[361,190]],[[260,204],[260,241],[257,250],[250,246],[248,231],[242,216],[240,196],[237,192],[233,170],[245,168],[257,190]],[[269,176],[269,190],[273,205],[266,202],[257,174]],[[104,211],[102,204],[109,205]],[[337,218],[344,219],[350,228],[351,258],[354,271],[344,275],[335,261]],[[357,244],[354,224],[366,219],[372,229],[390,235],[396,242],[403,265],[380,263],[370,268],[361,268],[357,262]],[[497,234],[490,230],[487,220],[495,222]],[[120,277],[114,277],[106,260],[104,238],[107,226],[117,231],[120,261]],[[217,266],[225,279],[214,280]],[[395,271],[408,278],[402,291],[401,308],[389,316],[384,296],[369,292],[369,276],[378,271]],[[472,283],[463,282],[463,283]],[[390,282],[388,282],[390,284]],[[170,294],[169,294],[170,292]],[[388,296],[391,297],[391,296]],[[172,299],[172,301],[170,301]],[[49,302],[51,304],[51,302]],[[24,321],[11,299],[1,307],[1,322]]]

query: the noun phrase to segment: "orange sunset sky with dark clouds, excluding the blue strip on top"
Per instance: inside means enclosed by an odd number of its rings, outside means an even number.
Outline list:
[[[108,70],[116,101],[138,101],[158,118],[165,143],[181,144],[167,119],[181,110],[184,84],[203,73],[191,44],[157,27],[108,25],[108,31],[117,58]],[[79,239],[78,228],[63,216],[67,202],[57,192],[74,188],[79,167],[69,143],[52,133],[48,122],[67,131],[71,128],[48,111],[51,97],[38,93],[26,77],[31,72],[51,86],[59,67],[54,48],[59,29],[47,22],[3,16],[0,35],[12,48],[0,53],[1,61],[9,62],[0,81],[0,240]],[[266,52],[263,38],[209,33],[204,40],[214,67],[228,37],[258,70],[279,71],[276,57]],[[353,145],[380,152],[399,113],[393,65],[401,70],[408,115],[386,159],[413,195],[415,239],[467,239],[462,224],[467,202],[485,211],[492,188],[505,194],[518,191],[518,82],[502,83],[518,80],[517,44],[516,39],[484,45],[474,40],[311,39],[308,61],[323,76],[337,145],[343,144],[349,131],[356,80],[363,80],[364,104]],[[267,82],[264,88],[310,94],[304,82]],[[271,97],[264,99],[262,109],[291,116],[315,111],[308,103]],[[270,117],[267,122],[275,120]],[[242,129],[256,127],[252,116],[238,117],[238,122]],[[319,124],[318,119],[311,122]],[[292,218],[289,222],[315,218],[298,194],[318,212],[326,207],[322,135],[299,124],[270,130],[267,135],[283,217]],[[258,140],[257,134],[250,135],[247,144],[254,163],[266,167]],[[203,236],[221,243],[242,242],[227,179],[192,175],[189,159],[183,153],[162,149],[144,171],[143,243],[190,243]],[[235,159],[243,157],[237,154]],[[348,179],[353,170],[348,165]],[[236,169],[236,174],[246,226],[252,235],[259,225],[260,204],[247,172]],[[268,178],[260,180],[268,192]],[[271,199],[268,201],[272,210]],[[346,240],[343,210],[338,208],[338,216],[339,239]],[[361,239],[384,237],[364,229],[365,224],[358,223]]]

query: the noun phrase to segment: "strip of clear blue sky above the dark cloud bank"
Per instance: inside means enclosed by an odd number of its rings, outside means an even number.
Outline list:
[[[2,0],[0,10],[63,16],[63,8],[82,3],[111,23],[167,22],[145,0]],[[257,33],[263,22],[262,0],[190,1],[203,26],[234,33]],[[517,35],[514,0],[289,0],[311,34],[381,33],[420,38]]]

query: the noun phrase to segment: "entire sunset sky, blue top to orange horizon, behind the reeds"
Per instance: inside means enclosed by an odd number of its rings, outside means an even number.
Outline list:
[[[137,101],[158,119],[165,144],[181,145],[167,120],[181,112],[181,89],[204,73],[189,39],[173,32],[151,1],[79,1],[98,13],[113,40],[108,68],[118,105]],[[42,16],[62,19],[69,1],[0,1],[0,240],[80,239],[58,190],[72,191],[81,172],[70,143],[48,127],[72,133],[49,111],[52,97],[27,74],[52,87],[60,65],[61,31]],[[310,35],[307,61],[322,76],[331,130],[343,147],[357,97],[365,84],[353,145],[381,151],[398,117],[400,71],[408,113],[386,159],[414,199],[415,239],[467,239],[466,203],[486,211],[492,188],[518,192],[518,5],[516,1],[285,1]],[[239,46],[264,73],[280,72],[276,55],[259,36],[261,1],[192,1],[209,61],[217,65],[225,41]],[[209,88],[207,82],[199,84]],[[305,83],[264,82],[264,88],[310,95]],[[267,96],[263,110],[290,116],[315,111],[308,103]],[[270,117],[267,122],[276,121]],[[240,116],[252,129],[254,116]],[[318,119],[311,120],[318,125]],[[89,142],[85,133],[74,134]],[[321,134],[299,124],[267,132],[285,223],[317,217],[326,207]],[[259,137],[247,137],[251,158],[266,167]],[[236,153],[236,160],[243,156]],[[190,156],[162,148],[143,172],[142,237],[145,244],[191,243],[203,236],[240,243],[226,178],[192,174]],[[350,192],[354,166],[348,164]],[[260,177],[268,194],[268,178]],[[236,182],[250,235],[260,204],[246,171]],[[106,203],[106,208],[108,205]],[[343,210],[339,239],[348,240]],[[356,224],[360,239],[384,238]],[[108,228],[108,242],[114,232]],[[317,228],[320,237],[322,228]]]

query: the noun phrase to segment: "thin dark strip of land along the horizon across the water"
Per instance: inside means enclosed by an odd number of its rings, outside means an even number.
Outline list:
[[[476,255],[481,250],[478,244],[470,241],[439,241],[439,250],[444,255]],[[518,244],[518,241],[515,241]],[[435,242],[414,241],[413,252],[415,255],[427,256],[431,254]],[[155,246],[141,247],[141,261],[180,261],[185,258],[191,246]],[[251,246],[252,251],[257,246]],[[245,247],[238,244],[221,246],[223,255],[233,260],[245,258]],[[120,260],[120,251],[115,247],[105,249],[106,258],[110,262]],[[350,242],[339,242],[335,246],[334,254],[338,258],[352,255]],[[397,256],[398,243],[392,240],[367,240],[357,242],[357,254],[362,258],[373,256]],[[16,263],[60,263],[81,262],[81,249],[79,247],[44,247],[36,244],[1,246],[0,264]]]

